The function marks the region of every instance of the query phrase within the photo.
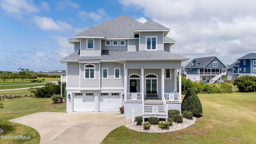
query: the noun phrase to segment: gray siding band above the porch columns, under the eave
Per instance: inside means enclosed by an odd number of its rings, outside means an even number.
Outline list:
[[[166,68],[166,69],[178,69],[181,68],[181,62],[179,60],[162,60],[162,61],[126,61],[125,68],[128,69],[140,69],[140,68]]]

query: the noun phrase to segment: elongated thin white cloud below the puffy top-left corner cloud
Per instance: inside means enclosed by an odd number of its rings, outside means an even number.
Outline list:
[[[56,30],[64,31],[71,30],[72,26],[66,22],[61,22],[57,20],[56,22],[49,17],[34,16],[34,21],[37,26],[42,30]]]

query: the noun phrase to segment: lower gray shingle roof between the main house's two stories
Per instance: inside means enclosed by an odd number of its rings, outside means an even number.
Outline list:
[[[101,56],[80,56],[80,50],[60,60],[61,62],[87,61],[87,60],[188,60],[163,50],[127,52],[127,50],[102,50]]]

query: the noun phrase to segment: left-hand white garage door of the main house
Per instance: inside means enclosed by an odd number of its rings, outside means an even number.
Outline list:
[[[94,96],[74,96],[74,112],[94,112]]]

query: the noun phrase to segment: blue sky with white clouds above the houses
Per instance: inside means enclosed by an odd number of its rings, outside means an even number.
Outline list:
[[[256,52],[255,7],[252,0],[0,0],[0,70],[66,70],[58,60],[73,52],[67,40],[120,15],[170,28],[174,54],[232,64]]]

